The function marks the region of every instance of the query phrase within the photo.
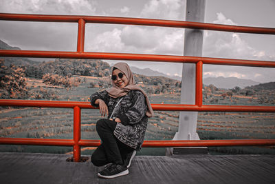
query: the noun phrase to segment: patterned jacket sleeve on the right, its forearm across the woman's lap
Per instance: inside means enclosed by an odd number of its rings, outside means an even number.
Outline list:
[[[123,125],[133,125],[139,123],[146,116],[147,105],[142,92],[137,91],[132,99],[132,105],[129,110],[118,116]]]

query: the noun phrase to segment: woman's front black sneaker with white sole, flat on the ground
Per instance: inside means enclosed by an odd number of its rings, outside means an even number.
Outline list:
[[[116,178],[118,176],[124,176],[129,174],[129,170],[124,165],[111,164],[105,167],[104,170],[98,172],[100,178]]]

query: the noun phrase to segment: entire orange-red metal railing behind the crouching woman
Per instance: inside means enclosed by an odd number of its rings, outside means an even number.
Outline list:
[[[196,63],[196,101],[195,105],[183,104],[152,104],[153,110],[168,111],[208,111],[208,112],[275,112],[274,106],[248,105],[203,105],[202,103],[202,66],[243,65],[254,67],[275,68],[274,61],[255,61],[243,59],[218,59],[206,57],[184,57],[156,54],[124,54],[84,52],[85,23],[115,23],[129,25],[152,25],[170,28],[192,28],[203,30],[219,30],[227,32],[245,32],[256,34],[275,34],[275,28],[255,28],[235,25],[219,25],[212,23],[197,23],[187,21],[168,21],[156,19],[136,19],[122,17],[67,16],[43,14],[1,14],[0,20],[5,21],[47,21],[47,22],[77,22],[78,43],[77,52],[34,51],[34,50],[0,50],[1,57],[46,57],[74,59],[116,59],[131,61],[162,61],[173,63]],[[23,139],[0,138],[1,144],[17,145],[59,145],[74,147],[74,161],[80,161],[81,146],[98,146],[98,140],[83,140],[80,136],[81,109],[94,108],[88,102],[67,101],[28,101],[0,100],[2,106],[43,107],[43,108],[73,108],[74,109],[74,139]],[[199,146],[234,146],[234,145],[275,145],[275,139],[250,140],[199,140],[199,141],[144,141],[143,147],[199,147]]]

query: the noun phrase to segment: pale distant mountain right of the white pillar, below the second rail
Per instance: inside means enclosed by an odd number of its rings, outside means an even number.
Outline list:
[[[225,89],[231,89],[236,86],[239,86],[240,88],[245,88],[250,85],[258,85],[259,82],[252,81],[250,79],[239,79],[236,77],[208,77],[203,79],[203,84],[206,85],[214,85],[217,88],[225,88]]]

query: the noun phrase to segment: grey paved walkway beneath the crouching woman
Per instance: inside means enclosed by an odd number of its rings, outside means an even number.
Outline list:
[[[1,183],[275,183],[275,155],[135,156],[129,175],[98,178],[102,168],[64,154],[0,153]]]

